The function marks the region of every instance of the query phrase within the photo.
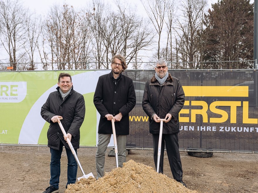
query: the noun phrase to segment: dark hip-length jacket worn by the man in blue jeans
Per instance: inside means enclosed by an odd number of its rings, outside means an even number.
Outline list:
[[[46,103],[41,108],[40,114],[43,119],[50,123],[47,131],[48,147],[59,149],[61,139],[65,147],[69,149],[60,126],[51,120],[53,116],[58,115],[63,117],[61,123],[65,132],[72,135],[71,143],[74,149],[79,148],[80,127],[85,116],[85,102],[82,94],[74,91],[72,87],[69,95],[63,100],[59,87],[57,87],[57,91],[49,94]]]

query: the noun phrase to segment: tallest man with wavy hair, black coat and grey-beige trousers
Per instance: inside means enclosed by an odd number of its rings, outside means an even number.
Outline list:
[[[104,175],[105,153],[112,134],[111,119],[115,122],[118,166],[126,160],[126,135],[129,135],[129,112],[136,103],[133,80],[122,72],[127,68],[125,58],[113,56],[111,73],[99,77],[94,94],[94,105],[100,114],[98,149],[96,152],[97,178]]]

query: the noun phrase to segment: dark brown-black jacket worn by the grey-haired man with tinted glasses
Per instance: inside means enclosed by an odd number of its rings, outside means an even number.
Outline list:
[[[184,106],[184,90],[176,77],[169,74],[167,80],[160,85],[155,76],[145,84],[142,108],[149,116],[149,129],[152,134],[159,134],[160,124],[151,120],[153,114],[164,119],[167,113],[172,119],[163,123],[163,134],[179,132],[178,114]]]

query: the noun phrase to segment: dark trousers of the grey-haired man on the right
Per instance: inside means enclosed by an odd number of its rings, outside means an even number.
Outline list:
[[[159,134],[152,134],[153,138],[153,158],[155,167],[157,170],[157,158],[158,158],[158,145],[159,145]],[[164,160],[164,149],[167,149],[167,156],[169,160],[169,166],[175,180],[182,180],[183,178],[183,170],[182,163],[179,154],[179,144],[178,144],[178,133],[176,134],[162,134],[162,142],[161,142],[161,154],[159,161],[159,173],[163,174],[163,160]]]

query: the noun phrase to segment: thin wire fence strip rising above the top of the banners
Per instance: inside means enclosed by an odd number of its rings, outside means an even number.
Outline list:
[[[127,62],[128,69],[154,69],[155,61]],[[257,60],[245,61],[206,61],[206,62],[171,62],[169,69],[257,69]],[[53,63],[0,63],[0,71],[24,70],[94,70],[111,69],[110,62],[53,62]]]

